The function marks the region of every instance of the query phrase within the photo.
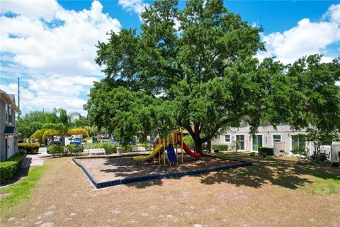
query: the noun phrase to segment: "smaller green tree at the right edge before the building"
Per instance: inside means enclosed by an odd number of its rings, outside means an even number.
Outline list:
[[[339,140],[340,133],[340,60],[322,63],[320,55],[302,57],[289,67],[291,92],[290,125],[306,130],[317,154],[322,145]]]

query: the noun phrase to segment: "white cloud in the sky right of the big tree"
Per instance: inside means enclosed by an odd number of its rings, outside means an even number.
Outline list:
[[[267,52],[260,52],[259,59],[276,56],[281,62],[288,64],[299,57],[314,53],[327,53],[327,46],[340,41],[340,4],[329,7],[326,20],[311,22],[304,18],[297,26],[283,33],[263,35]],[[324,57],[324,61],[331,57]]]

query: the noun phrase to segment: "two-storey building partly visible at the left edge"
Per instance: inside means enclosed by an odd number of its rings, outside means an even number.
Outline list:
[[[0,90],[0,161],[18,153],[18,133],[16,131],[16,106],[14,94]]]

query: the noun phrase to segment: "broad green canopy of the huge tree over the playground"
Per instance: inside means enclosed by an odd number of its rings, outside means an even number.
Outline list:
[[[106,78],[94,84],[84,106],[96,126],[123,143],[181,126],[200,152],[202,143],[242,119],[253,133],[260,119],[295,123],[291,104],[304,96],[296,87],[298,64],[260,63],[262,29],[222,0],[191,0],[184,9],[176,0],[155,1],[141,17],[140,33],[123,29],[98,42],[96,62]]]

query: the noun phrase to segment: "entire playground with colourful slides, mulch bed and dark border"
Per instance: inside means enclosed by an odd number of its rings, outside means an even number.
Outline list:
[[[211,155],[193,153],[183,143],[182,138],[183,130],[180,132],[174,130],[166,138],[158,138],[154,143],[154,150],[149,155],[74,157],[72,160],[81,167],[97,189],[118,184],[201,175],[252,165],[251,162],[227,160]],[[187,155],[183,155],[183,151]],[[138,163],[143,160],[147,162],[136,165],[136,161]],[[162,160],[164,165],[161,165]],[[168,160],[170,168],[166,166],[166,160]],[[178,165],[179,162],[181,165]],[[172,164],[175,165],[171,167]]]

